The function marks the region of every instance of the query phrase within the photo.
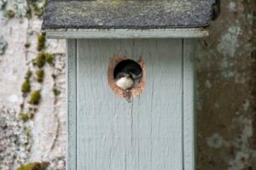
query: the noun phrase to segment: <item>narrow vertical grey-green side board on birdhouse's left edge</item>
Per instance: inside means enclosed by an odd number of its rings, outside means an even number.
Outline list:
[[[67,40],[67,170],[77,169],[77,41]]]

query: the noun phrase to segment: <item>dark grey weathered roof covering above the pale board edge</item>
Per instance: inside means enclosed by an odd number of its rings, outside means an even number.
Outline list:
[[[215,0],[49,0],[43,29],[207,27]]]

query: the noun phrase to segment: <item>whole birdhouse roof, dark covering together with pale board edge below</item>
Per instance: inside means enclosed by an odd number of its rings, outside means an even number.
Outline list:
[[[215,0],[49,0],[50,38],[206,37]]]

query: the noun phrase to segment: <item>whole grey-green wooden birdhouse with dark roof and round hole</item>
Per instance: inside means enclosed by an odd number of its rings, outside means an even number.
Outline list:
[[[67,39],[67,169],[195,169],[195,39],[215,0],[51,0]]]

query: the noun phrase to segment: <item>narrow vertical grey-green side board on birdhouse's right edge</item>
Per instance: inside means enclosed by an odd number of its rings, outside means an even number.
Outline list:
[[[183,40],[184,170],[195,170],[195,40]]]

